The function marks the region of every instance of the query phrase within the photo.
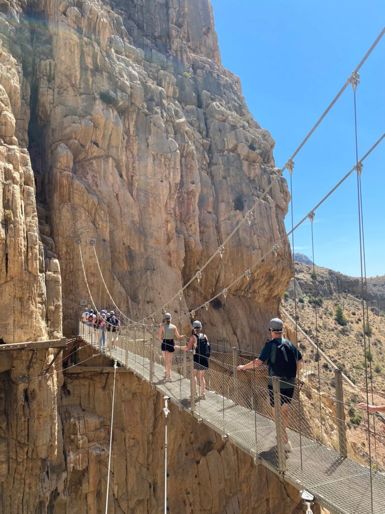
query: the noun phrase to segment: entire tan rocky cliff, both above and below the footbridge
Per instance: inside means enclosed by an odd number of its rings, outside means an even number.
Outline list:
[[[91,238],[123,311],[142,318],[162,306],[278,174],[273,146],[239,80],[221,65],[208,0],[3,0],[0,337],[58,337],[62,308],[63,331],[72,333],[80,300],[90,301],[78,239],[99,306],[108,297]],[[183,311],[221,291],[284,235],[287,202],[279,179],[251,228],[205,269],[200,289],[187,291]],[[285,241],[277,261],[254,271],[247,292],[239,284],[223,309],[217,302],[200,313],[214,344],[226,337],[247,349],[250,334],[258,340],[289,263]],[[179,301],[168,308],[179,313]],[[6,514],[104,511],[111,383],[103,375],[62,383],[54,371],[36,378],[52,357],[14,352],[12,369],[0,373]],[[163,501],[161,400],[142,388],[119,375],[110,492],[117,513],[155,512]],[[295,491],[174,408],[171,432],[170,512],[297,508]],[[207,481],[210,490],[202,488]],[[250,495],[256,489],[261,494]]]

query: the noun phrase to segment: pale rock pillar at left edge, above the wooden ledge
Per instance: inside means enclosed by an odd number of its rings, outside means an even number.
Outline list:
[[[0,338],[9,343],[60,336],[62,310],[59,262],[38,231],[22,47],[1,17],[0,32]]]

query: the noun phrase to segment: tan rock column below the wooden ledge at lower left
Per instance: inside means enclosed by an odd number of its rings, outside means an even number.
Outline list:
[[[62,479],[51,463],[58,454],[63,458],[57,410],[63,377],[42,374],[52,351],[9,354],[12,369],[0,373],[0,511],[46,514],[52,484]]]

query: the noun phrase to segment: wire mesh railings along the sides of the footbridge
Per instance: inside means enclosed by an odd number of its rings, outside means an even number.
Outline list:
[[[302,488],[314,490],[325,480],[325,474],[341,473],[340,464],[344,462],[350,464],[345,464],[341,480],[347,480],[349,473],[367,473],[371,484],[380,483],[378,487],[385,492],[385,423],[357,409],[355,405],[363,395],[354,392],[352,396],[350,390],[344,397],[340,370],[328,371],[319,380],[311,366],[305,366],[287,403],[282,389],[292,384],[273,378],[269,391],[266,366],[238,371],[239,364],[251,359],[236,348],[232,353],[211,352],[204,373],[195,369],[194,352],[175,350],[168,378],[155,328],[143,331],[139,325],[112,332],[110,327],[103,332],[87,323],[79,325],[79,335],[87,343],[192,411],[223,439],[232,440],[255,458],[291,475]],[[369,449],[375,455],[374,463],[369,459]],[[316,463],[316,455],[322,456],[327,466]],[[373,498],[377,498],[376,487]],[[371,491],[373,495],[373,487]],[[360,504],[357,512],[385,512],[381,508],[378,504],[378,508],[365,510]]]

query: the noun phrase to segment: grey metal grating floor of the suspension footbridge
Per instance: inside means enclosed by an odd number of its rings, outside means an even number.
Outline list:
[[[125,365],[125,350],[112,350],[111,357]],[[127,367],[149,381],[148,359],[127,352]],[[190,411],[189,379],[175,371],[171,372],[171,378],[171,382],[166,382],[164,365],[153,363],[152,386]],[[196,399],[194,415],[221,435],[226,434],[249,454],[257,454],[262,464],[278,472],[276,429],[272,419],[211,391],[206,391],[206,399]],[[384,473],[372,471],[372,510],[369,468],[349,458],[341,458],[335,450],[304,435],[300,441],[299,433],[294,430],[288,429],[288,436],[293,451],[286,453],[287,471],[283,475],[284,479],[298,489],[303,487],[313,493],[318,503],[336,514],[385,514]]]

